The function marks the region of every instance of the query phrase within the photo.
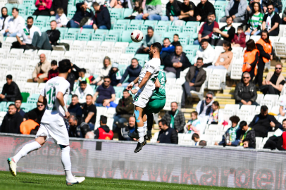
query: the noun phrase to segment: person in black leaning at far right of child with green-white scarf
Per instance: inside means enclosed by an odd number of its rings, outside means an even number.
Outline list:
[[[244,132],[244,134],[242,134],[240,146],[243,146],[244,148],[256,148],[256,132],[250,127],[250,124],[248,126],[246,121],[242,121],[240,122],[240,129]]]

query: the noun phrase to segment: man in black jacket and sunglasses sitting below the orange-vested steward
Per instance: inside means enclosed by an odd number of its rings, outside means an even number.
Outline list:
[[[244,72],[242,75],[243,82],[239,82],[235,87],[235,103],[240,105],[255,105],[259,106],[256,103],[257,93],[255,84],[250,82],[251,77],[249,72]]]

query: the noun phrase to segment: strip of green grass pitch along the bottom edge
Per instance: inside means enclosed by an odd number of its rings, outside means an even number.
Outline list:
[[[63,175],[39,175],[30,173],[17,173],[13,177],[10,172],[0,171],[0,189],[1,190],[57,190],[57,189],[233,189],[216,186],[195,186],[187,184],[168,184],[159,182],[139,182],[122,179],[102,179],[87,177],[82,184],[66,186],[66,177]],[[238,189],[235,189],[238,190]],[[245,189],[244,189],[245,190]]]

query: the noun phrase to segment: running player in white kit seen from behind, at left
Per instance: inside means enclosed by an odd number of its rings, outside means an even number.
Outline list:
[[[46,110],[42,117],[39,131],[36,134],[36,140],[26,144],[13,157],[8,158],[9,170],[13,176],[16,176],[16,167],[20,158],[27,156],[28,153],[41,148],[47,139],[53,138],[55,143],[61,147],[61,162],[66,172],[66,184],[80,184],[85,177],[74,177],[71,172],[70,146],[68,130],[64,118],[70,117],[65,103],[70,94],[70,83],[66,80],[71,71],[71,63],[68,59],[58,62],[58,77],[54,77],[42,89],[39,96],[39,103],[46,105]]]

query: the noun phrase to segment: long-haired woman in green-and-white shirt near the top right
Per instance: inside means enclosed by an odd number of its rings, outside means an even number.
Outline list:
[[[247,31],[245,31],[246,35],[259,35],[261,32],[261,25],[263,20],[263,13],[261,13],[261,6],[259,3],[253,3],[254,10],[249,16],[249,20],[247,21]]]

